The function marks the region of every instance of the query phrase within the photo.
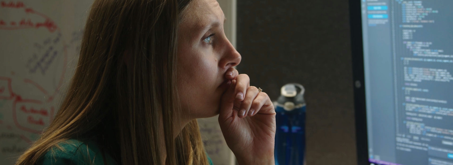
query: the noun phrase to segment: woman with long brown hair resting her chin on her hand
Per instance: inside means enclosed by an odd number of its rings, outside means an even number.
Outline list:
[[[223,31],[216,0],[95,0],[53,122],[16,165],[206,165],[217,114],[241,165],[274,164],[275,110]]]

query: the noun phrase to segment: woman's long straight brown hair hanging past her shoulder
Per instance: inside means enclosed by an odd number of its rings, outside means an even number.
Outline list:
[[[177,32],[190,1],[95,0],[66,97],[16,165],[35,164],[68,139],[94,140],[122,165],[207,164],[196,120],[173,138]]]

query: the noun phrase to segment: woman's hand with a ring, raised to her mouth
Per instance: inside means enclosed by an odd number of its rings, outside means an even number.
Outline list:
[[[240,165],[274,165],[274,105],[250,86],[248,75],[230,68],[225,76],[231,84],[222,95],[219,124],[226,144]]]

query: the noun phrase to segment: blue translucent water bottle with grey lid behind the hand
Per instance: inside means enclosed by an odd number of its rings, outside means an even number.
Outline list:
[[[274,102],[277,130],[275,134],[275,165],[304,165],[305,100],[304,86],[289,83],[280,89]]]

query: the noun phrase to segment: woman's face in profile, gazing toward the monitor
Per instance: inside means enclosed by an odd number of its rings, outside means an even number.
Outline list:
[[[178,29],[178,94],[189,119],[218,114],[228,88],[226,70],[241,55],[223,31],[225,16],[216,0],[193,0]]]

